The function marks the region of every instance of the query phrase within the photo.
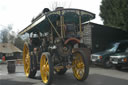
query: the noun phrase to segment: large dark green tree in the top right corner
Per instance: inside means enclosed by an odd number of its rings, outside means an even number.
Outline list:
[[[104,25],[128,31],[128,0],[102,0],[100,17]]]

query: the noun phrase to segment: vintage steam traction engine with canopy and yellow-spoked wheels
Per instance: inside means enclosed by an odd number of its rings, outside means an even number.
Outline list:
[[[90,50],[83,43],[83,22],[94,19],[93,13],[79,9],[45,8],[19,34],[29,33],[23,49],[24,72],[33,78],[40,70],[44,84],[53,80],[54,71],[63,75],[72,68],[74,77],[88,77]]]

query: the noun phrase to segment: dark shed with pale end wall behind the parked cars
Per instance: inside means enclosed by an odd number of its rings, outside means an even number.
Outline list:
[[[96,23],[86,23],[84,28],[84,43],[92,53],[105,50],[111,43],[120,40],[128,40],[128,33],[114,27]]]

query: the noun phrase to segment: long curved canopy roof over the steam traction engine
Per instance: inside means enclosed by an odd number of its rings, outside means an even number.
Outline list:
[[[95,14],[80,9],[61,9],[42,13],[36,20],[34,20],[28,27],[19,32],[20,35],[31,32],[47,32],[50,30],[50,23],[47,18],[55,25],[57,20],[60,20],[60,16],[64,17],[64,23],[79,24],[79,16],[81,16],[81,23],[92,20],[95,18]]]

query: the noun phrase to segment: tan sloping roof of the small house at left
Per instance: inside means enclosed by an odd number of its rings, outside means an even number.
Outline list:
[[[0,53],[22,52],[19,48],[11,43],[0,43]]]

